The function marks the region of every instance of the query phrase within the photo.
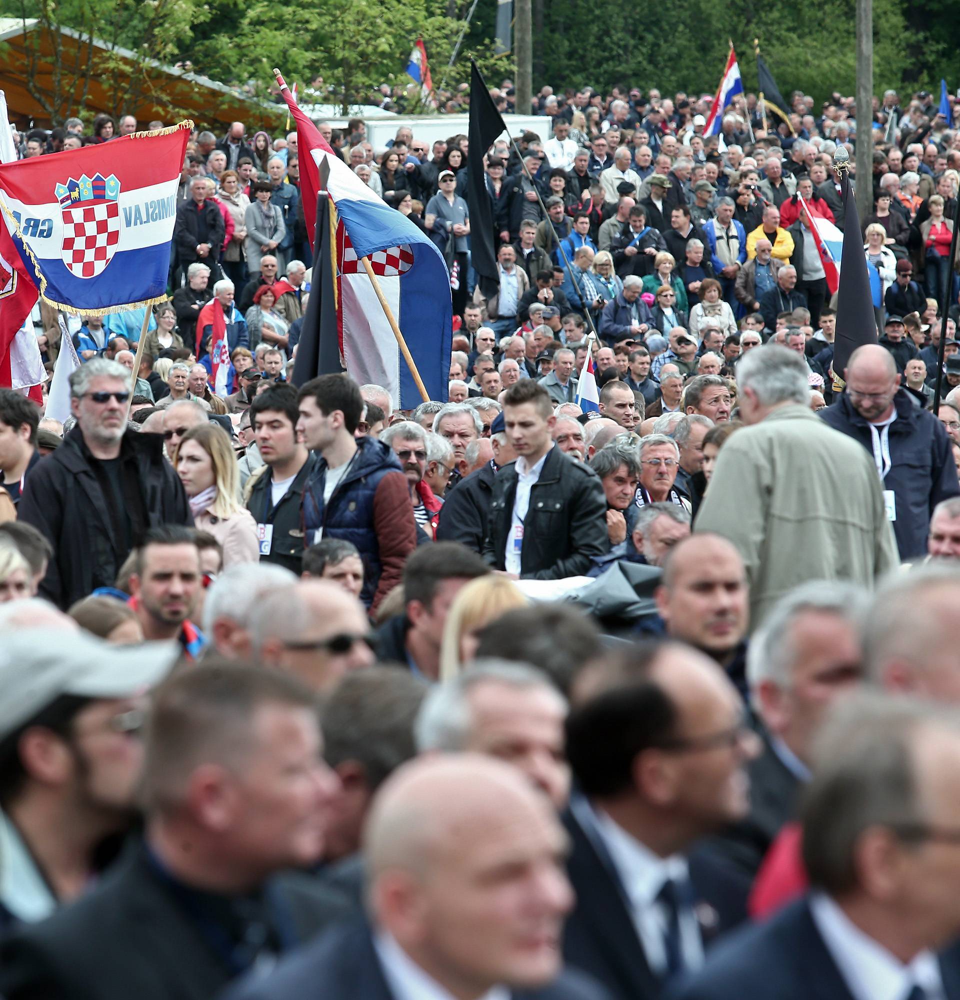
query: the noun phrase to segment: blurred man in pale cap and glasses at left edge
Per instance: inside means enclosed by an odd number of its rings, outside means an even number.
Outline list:
[[[173,643],[112,646],[50,614],[0,647],[0,928],[79,896],[97,848],[129,828],[143,696],[177,655]]]

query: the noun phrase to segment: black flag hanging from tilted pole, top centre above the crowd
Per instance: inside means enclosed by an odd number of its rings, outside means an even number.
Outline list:
[[[497,106],[477,64],[471,60],[470,69],[470,127],[467,150],[467,204],[470,207],[470,254],[473,269],[477,272],[480,291],[489,299],[497,294],[500,279],[497,275],[497,254],[493,239],[493,203],[487,193],[487,175],[483,157],[494,140],[506,131]]]

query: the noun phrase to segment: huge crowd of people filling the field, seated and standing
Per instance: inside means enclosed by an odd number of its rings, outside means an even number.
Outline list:
[[[960,1000],[960,131],[877,101],[834,372],[858,123],[791,103],[544,88],[482,157],[321,122],[453,241],[413,410],[294,384],[296,133],[190,137],[169,301],[38,309],[66,423],[0,390],[0,997]]]

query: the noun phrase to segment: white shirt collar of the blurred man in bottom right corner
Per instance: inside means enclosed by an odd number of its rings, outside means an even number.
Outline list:
[[[927,1000],[946,996],[933,952],[922,951],[904,965],[823,893],[810,897],[810,913],[854,1000],[906,1000],[914,986]]]

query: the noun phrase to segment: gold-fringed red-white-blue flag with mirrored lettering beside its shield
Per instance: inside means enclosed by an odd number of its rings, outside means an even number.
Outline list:
[[[116,312],[165,297],[192,122],[0,165],[0,210],[54,308]]]

